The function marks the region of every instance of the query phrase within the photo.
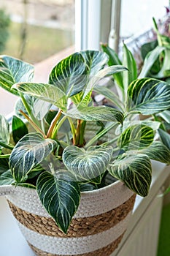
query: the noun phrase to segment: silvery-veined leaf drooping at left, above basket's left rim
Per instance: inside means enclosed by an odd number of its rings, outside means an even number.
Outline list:
[[[9,157],[9,167],[15,180],[20,183],[28,172],[42,162],[57,146],[55,140],[45,139],[38,132],[24,136]]]

